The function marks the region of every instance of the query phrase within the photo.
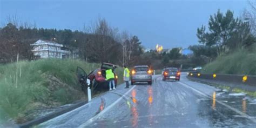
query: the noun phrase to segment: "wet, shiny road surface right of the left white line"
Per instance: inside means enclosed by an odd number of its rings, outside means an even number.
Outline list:
[[[181,83],[187,81],[183,77]],[[190,85],[190,83],[187,84]],[[191,86],[195,88],[199,87],[199,85]],[[218,90],[215,91],[213,87],[209,88],[209,86],[200,86],[197,89],[212,98],[202,96],[184,87],[179,82],[163,82],[161,78],[157,78],[152,86],[140,84],[134,87],[125,96],[126,100],[120,101],[118,105],[114,106],[86,127],[254,126],[252,120],[239,115],[217,102],[217,100],[220,100],[221,103],[227,103],[226,101],[229,99],[221,98],[225,95],[224,93],[220,93]],[[233,99],[234,97],[226,98]],[[245,98],[240,99],[240,107],[234,107],[246,113],[246,100]],[[124,102],[127,105],[123,104]],[[255,106],[254,109],[256,109]]]

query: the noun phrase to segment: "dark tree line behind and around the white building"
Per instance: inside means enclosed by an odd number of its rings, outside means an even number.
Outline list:
[[[10,20],[0,28],[0,62],[14,62],[18,54],[19,59],[32,60],[30,44],[38,39],[55,41],[77,49],[80,59],[95,63],[131,65],[129,60],[143,53],[138,36],[119,32],[104,18],[98,18],[92,25],[85,26],[84,31],[38,29],[32,25],[18,25],[16,20]]]

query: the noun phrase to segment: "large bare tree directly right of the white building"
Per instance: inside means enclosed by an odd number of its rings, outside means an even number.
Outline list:
[[[120,44],[117,41],[118,29],[98,18],[87,28],[86,53],[93,62],[116,62],[120,55]]]

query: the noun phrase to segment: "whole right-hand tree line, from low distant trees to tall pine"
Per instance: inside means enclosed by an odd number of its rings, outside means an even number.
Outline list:
[[[156,66],[191,68],[212,62],[218,56],[233,53],[239,49],[251,50],[255,48],[255,3],[249,2],[251,11],[245,10],[240,17],[227,10],[225,13],[218,10],[210,15],[207,25],[197,29],[198,45],[188,47],[193,55],[181,55],[178,48],[156,54],[147,53],[148,57],[160,60]],[[153,61],[153,60],[152,60]]]

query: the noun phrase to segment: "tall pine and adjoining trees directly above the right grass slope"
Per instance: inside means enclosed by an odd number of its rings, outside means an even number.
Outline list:
[[[193,51],[194,62],[204,65],[218,56],[233,53],[235,50],[254,47],[255,8],[251,3],[252,12],[245,10],[241,17],[234,17],[234,12],[220,10],[210,16],[208,25],[197,29],[199,45],[189,47]],[[206,60],[206,61],[202,61]]]

